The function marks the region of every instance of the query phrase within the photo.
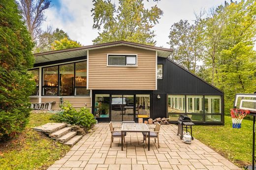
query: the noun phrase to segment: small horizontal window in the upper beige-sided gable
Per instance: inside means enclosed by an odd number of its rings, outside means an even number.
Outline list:
[[[108,55],[108,66],[136,66],[136,55]]]

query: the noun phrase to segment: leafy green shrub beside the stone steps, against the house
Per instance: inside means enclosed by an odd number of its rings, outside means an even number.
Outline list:
[[[84,107],[77,111],[70,103],[65,103],[62,106],[62,111],[53,115],[51,120],[81,125],[86,128],[91,128],[96,123],[90,109]]]

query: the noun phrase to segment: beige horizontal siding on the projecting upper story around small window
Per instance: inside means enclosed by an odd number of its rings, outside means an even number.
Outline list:
[[[137,67],[107,66],[107,54],[137,54]],[[89,89],[156,90],[156,51],[117,46],[89,50]]]

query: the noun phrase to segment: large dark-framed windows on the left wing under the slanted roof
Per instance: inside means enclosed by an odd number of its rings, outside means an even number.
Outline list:
[[[30,70],[39,94],[39,69]],[[42,68],[43,96],[84,96],[90,95],[87,85],[87,61]]]

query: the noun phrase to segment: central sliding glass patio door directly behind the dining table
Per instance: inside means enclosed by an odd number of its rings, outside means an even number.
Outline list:
[[[134,95],[112,95],[111,121],[134,120]]]

